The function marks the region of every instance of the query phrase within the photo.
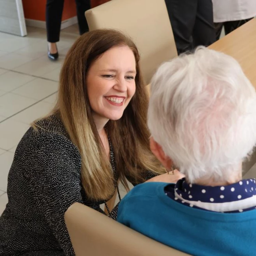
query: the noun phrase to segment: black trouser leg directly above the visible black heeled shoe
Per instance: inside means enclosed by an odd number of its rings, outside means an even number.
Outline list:
[[[47,41],[50,43],[55,43],[59,41],[63,5],[64,0],[47,0],[46,30]]]

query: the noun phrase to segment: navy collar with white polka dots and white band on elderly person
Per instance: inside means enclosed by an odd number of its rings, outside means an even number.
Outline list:
[[[242,212],[256,207],[255,179],[212,187],[189,184],[183,178],[174,187],[166,186],[165,193],[177,202],[209,211]]]

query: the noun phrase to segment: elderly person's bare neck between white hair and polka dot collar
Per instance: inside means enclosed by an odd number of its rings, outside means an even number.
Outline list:
[[[234,183],[237,183],[242,180],[242,167],[239,168],[238,171],[234,171],[236,173],[232,177],[229,177],[228,180],[223,180],[223,181],[217,181],[214,178],[209,178],[209,177],[203,177],[201,179],[195,180],[195,184],[197,185],[202,185],[202,186],[227,186],[231,185]]]

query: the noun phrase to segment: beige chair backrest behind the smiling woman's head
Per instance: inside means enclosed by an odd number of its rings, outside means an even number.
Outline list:
[[[177,56],[165,0],[111,0],[85,16],[90,30],[114,28],[133,39],[146,84],[162,62]]]

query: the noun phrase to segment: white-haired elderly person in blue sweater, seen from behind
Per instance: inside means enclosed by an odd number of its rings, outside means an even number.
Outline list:
[[[118,221],[192,255],[255,255],[255,179],[241,166],[256,143],[256,93],[238,62],[198,48],[163,63],[151,95],[151,149],[186,177],[133,188]]]

